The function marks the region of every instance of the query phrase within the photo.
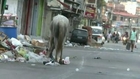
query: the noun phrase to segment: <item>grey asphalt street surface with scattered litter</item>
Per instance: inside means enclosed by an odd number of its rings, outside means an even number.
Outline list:
[[[139,48],[139,47],[138,47]],[[1,79],[140,79],[140,52],[126,51],[122,43],[102,48],[65,47],[71,63],[60,66],[1,62]]]

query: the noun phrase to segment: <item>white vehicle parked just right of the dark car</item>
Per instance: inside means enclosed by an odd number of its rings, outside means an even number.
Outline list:
[[[103,28],[100,26],[91,26],[91,28],[92,28],[92,39],[96,40],[97,43],[103,45],[105,43]]]

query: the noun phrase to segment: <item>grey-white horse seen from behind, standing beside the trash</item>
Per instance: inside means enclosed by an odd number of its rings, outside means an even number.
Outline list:
[[[50,41],[49,41],[49,50],[48,56],[49,58],[53,59],[54,62],[62,64],[62,53],[63,53],[63,46],[66,39],[66,34],[68,31],[68,27],[70,26],[69,20],[64,15],[58,14],[53,17],[50,31]],[[53,57],[53,50],[55,49],[55,58]],[[60,58],[60,59],[58,59]]]

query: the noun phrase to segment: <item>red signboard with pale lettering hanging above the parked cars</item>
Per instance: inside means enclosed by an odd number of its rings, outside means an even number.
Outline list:
[[[93,6],[86,6],[84,17],[86,18],[94,18],[95,16],[95,8]]]

